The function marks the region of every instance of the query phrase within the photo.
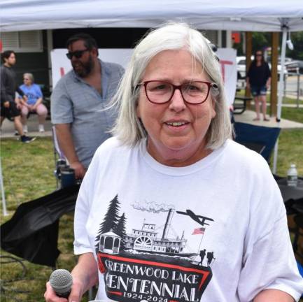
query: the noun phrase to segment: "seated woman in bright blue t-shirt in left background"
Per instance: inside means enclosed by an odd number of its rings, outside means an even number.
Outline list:
[[[24,73],[24,84],[20,89],[27,96],[27,101],[19,98],[19,106],[21,109],[21,117],[23,124],[23,131],[27,133],[27,115],[29,113],[37,113],[38,115],[38,131],[44,132],[44,122],[48,115],[48,109],[43,105],[43,94],[39,85],[34,84],[34,76],[31,73]]]

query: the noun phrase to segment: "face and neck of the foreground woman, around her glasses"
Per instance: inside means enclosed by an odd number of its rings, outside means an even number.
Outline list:
[[[209,81],[202,65],[186,50],[165,50],[148,64],[142,82],[163,80],[174,85]],[[148,101],[141,85],[137,116],[148,133],[148,152],[167,166],[188,166],[211,151],[206,150],[206,133],[215,117],[211,96],[202,104],[185,103],[176,89],[168,103]]]

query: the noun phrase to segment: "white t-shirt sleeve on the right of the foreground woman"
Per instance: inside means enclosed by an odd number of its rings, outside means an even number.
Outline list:
[[[303,292],[303,280],[290,243],[286,209],[276,181],[267,171],[258,186],[258,199],[244,241],[239,278],[240,301],[252,301],[264,289],[279,289],[296,301]],[[258,234],[258,235],[257,235]]]

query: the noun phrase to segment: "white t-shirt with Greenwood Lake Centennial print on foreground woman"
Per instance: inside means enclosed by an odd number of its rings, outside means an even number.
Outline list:
[[[98,299],[251,301],[303,292],[286,210],[267,162],[227,141],[186,167],[109,138],[80,187],[76,254],[94,252]]]

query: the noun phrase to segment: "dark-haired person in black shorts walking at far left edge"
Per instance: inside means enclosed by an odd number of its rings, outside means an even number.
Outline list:
[[[13,120],[15,124],[15,129],[18,134],[20,134],[22,143],[30,143],[34,141],[35,138],[25,136],[22,129],[20,110],[17,108],[15,103],[15,92],[18,92],[23,99],[26,101],[27,96],[24,92],[17,87],[16,74],[13,71],[13,66],[16,62],[15,52],[13,50],[6,50],[1,53],[1,61],[3,65],[1,66],[1,125],[5,118],[8,120]]]

